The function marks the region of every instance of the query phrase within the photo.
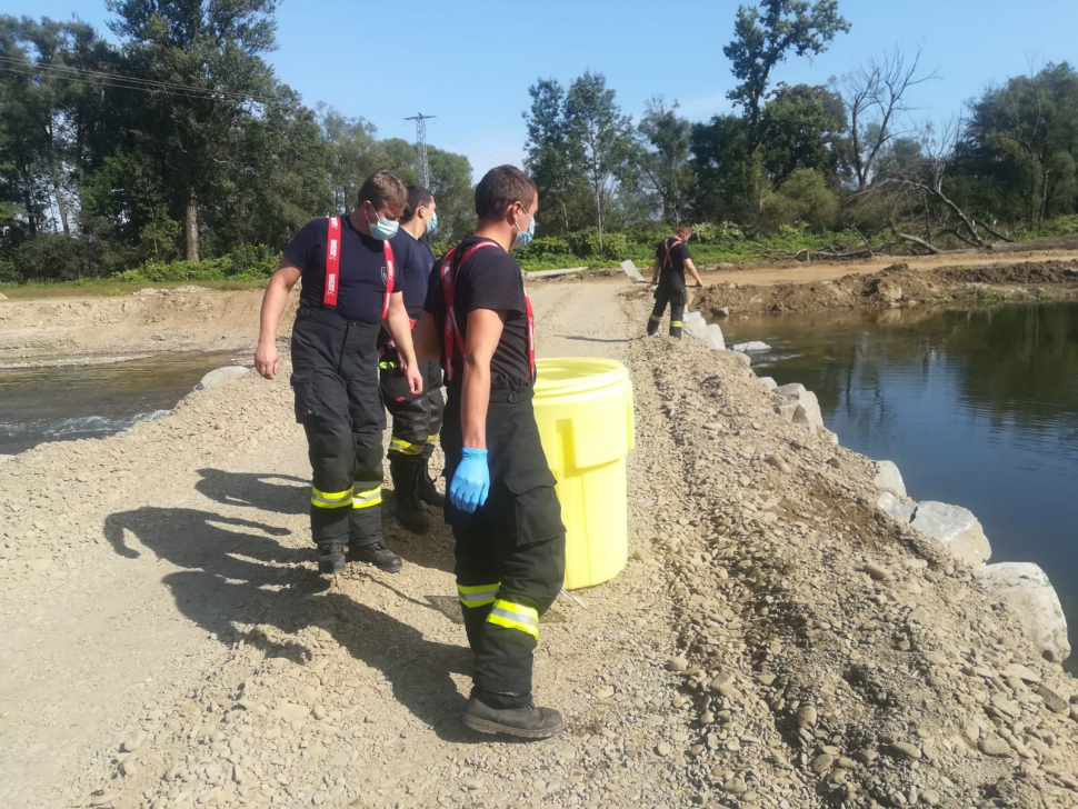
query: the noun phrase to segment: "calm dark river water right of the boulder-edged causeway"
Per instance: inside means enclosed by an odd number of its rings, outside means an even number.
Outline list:
[[[816,392],[844,447],[898,463],[909,496],[965,506],[992,562],[1032,561],[1078,655],[1078,304],[722,321],[760,376]],[[1075,658],[1072,658],[1074,660]]]

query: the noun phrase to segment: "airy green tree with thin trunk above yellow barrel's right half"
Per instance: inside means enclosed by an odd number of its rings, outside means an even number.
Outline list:
[[[606,77],[589,70],[569,87],[566,121],[571,153],[588,181],[601,247],[607,208],[635,153],[631,119],[621,113]]]

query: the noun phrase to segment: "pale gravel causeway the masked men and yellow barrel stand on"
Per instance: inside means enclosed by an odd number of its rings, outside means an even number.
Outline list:
[[[1072,807],[1078,685],[868,459],[617,291],[533,290],[542,353],[620,359],[637,406],[632,558],[543,625],[565,736],[459,725],[443,527],[319,579],[283,369],[0,467],[0,803]]]

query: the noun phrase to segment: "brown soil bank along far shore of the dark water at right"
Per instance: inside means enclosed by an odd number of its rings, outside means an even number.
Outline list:
[[[1078,260],[995,263],[914,270],[892,264],[869,274],[800,283],[715,283],[693,304],[729,314],[876,311],[911,307],[1078,299]]]

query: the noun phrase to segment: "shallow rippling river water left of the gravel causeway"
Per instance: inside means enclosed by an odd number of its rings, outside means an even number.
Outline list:
[[[229,352],[160,353],[93,364],[0,368],[0,455],[101,438],[160,418]],[[246,359],[246,358],[244,358]]]

